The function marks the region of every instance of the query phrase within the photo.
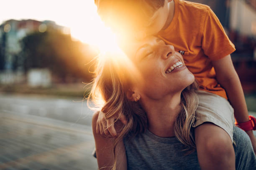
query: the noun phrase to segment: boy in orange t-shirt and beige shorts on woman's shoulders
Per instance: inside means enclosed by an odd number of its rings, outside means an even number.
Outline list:
[[[192,126],[203,170],[236,168],[233,115],[256,152],[253,125],[230,58],[235,47],[210,7],[184,0],[95,0],[95,4],[102,20],[120,35],[156,35],[183,55],[200,86],[200,103]],[[98,133],[115,136],[114,119],[105,120],[101,112]],[[123,116],[121,120],[125,123]]]

